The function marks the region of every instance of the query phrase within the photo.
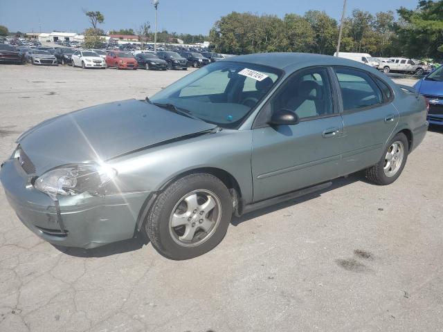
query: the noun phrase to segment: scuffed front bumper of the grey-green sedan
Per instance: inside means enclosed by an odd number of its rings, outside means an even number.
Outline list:
[[[95,248],[134,237],[138,214],[150,192],[92,196],[59,196],[56,203],[36,190],[17,159],[0,169],[6,197],[26,227],[42,239],[59,245]]]

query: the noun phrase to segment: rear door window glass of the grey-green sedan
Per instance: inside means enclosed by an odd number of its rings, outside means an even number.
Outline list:
[[[343,98],[343,111],[371,107],[383,102],[383,95],[370,75],[350,68],[335,69]]]

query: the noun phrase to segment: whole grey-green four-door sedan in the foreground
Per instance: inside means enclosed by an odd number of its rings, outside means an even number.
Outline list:
[[[165,257],[189,259],[217,246],[233,214],[361,169],[372,183],[393,183],[427,128],[425,98],[364,64],[242,55],[150,100],[28,129],[0,181],[19,219],[46,241],[93,248],[145,234]]]

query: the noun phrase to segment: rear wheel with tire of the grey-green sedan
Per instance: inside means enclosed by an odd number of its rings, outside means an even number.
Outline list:
[[[377,164],[366,169],[366,178],[377,185],[390,185],[403,172],[408,160],[409,143],[404,133],[397,133]]]

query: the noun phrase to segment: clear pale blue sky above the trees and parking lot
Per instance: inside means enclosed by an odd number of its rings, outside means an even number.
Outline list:
[[[354,8],[378,11],[413,9],[417,0],[347,0],[347,15]],[[254,12],[282,17],[287,12],[302,15],[307,10],[325,10],[340,19],[343,0],[160,0],[159,30],[207,35],[214,22],[232,12]],[[150,0],[0,0],[0,25],[10,31],[51,32],[60,30],[81,33],[89,27],[83,9],[100,10],[105,15],[103,30],[134,28],[150,21],[154,28],[154,7]]]

